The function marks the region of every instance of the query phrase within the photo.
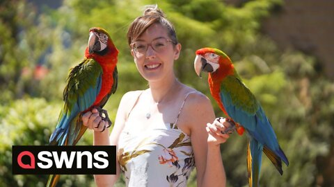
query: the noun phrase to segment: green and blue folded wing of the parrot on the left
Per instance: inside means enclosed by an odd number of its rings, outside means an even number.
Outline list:
[[[102,67],[93,59],[84,59],[74,66],[67,77],[63,91],[64,106],[58,118],[56,130],[49,139],[50,145],[72,145],[86,130],[82,127],[80,112],[95,102],[102,86]],[[81,133],[80,133],[81,132]]]

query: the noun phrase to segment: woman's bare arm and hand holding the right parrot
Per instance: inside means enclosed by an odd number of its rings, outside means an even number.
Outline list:
[[[230,123],[223,119],[220,122],[215,121],[211,101],[204,95],[192,96],[187,110],[186,115],[189,116],[186,121],[191,128],[191,145],[195,154],[197,184],[210,187],[225,186],[226,176],[220,144],[225,143],[229,135],[222,134],[221,130],[225,130]]]

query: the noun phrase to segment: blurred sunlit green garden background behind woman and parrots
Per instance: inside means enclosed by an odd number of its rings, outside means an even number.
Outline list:
[[[84,57],[88,29],[109,30],[120,50],[118,90],[106,105],[114,121],[127,91],[148,88],[126,32],[138,0],[0,1],[0,186],[45,186],[47,175],[12,175],[12,145],[47,145],[63,105],[70,67]],[[289,159],[281,176],[266,156],[261,186],[334,186],[334,1],[159,1],[182,44],[177,77],[209,98],[193,71],[196,49],[220,48],[269,116]],[[213,100],[212,100],[213,101]],[[216,116],[223,116],[213,101]],[[92,145],[86,132],[81,145]],[[246,136],[221,145],[228,186],[248,186]],[[196,171],[189,186],[196,186]],[[92,175],[62,175],[58,186],[95,186]],[[116,186],[125,186],[120,179]]]

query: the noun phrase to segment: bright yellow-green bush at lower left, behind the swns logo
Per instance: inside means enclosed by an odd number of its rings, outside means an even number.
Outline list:
[[[62,104],[44,98],[24,98],[0,106],[0,186],[45,186],[48,175],[12,175],[12,145],[47,145]],[[88,136],[90,135],[90,136]],[[91,145],[92,134],[81,144]],[[93,186],[91,175],[63,175],[61,186]]]

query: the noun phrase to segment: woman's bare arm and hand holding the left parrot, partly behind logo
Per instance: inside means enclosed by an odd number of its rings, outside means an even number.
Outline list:
[[[82,121],[84,125],[88,126],[90,130],[94,130],[94,141],[93,145],[118,145],[118,139],[120,133],[125,126],[125,121],[127,119],[127,114],[131,109],[129,106],[132,106],[135,102],[133,92],[128,92],[120,100],[120,105],[116,114],[116,120],[113,125],[113,130],[109,136],[109,130],[104,130],[104,126],[108,126],[106,121],[103,121],[100,117],[97,109],[92,109],[91,112],[86,112],[82,116]],[[134,100],[134,101],[133,101]],[[116,153],[116,158],[118,155]],[[94,175],[95,183],[97,186],[113,186],[118,178],[120,177],[120,165],[116,159],[116,175]]]

